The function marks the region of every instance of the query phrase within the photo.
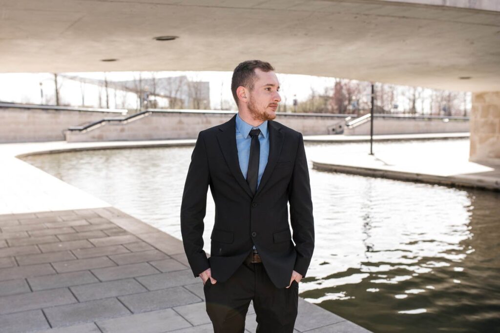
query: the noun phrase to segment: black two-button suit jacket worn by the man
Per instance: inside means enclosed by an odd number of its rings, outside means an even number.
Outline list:
[[[211,276],[224,282],[255,244],[272,283],[283,288],[289,285],[292,270],[305,277],[314,249],[302,134],[268,120],[269,157],[253,196],[239,167],[235,119],[236,115],[198,134],[180,208],[184,250],[195,277],[211,268]],[[208,187],[215,202],[215,221],[207,259],[202,234]]]

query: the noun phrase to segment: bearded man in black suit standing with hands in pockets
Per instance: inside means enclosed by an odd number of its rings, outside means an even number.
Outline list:
[[[253,300],[258,333],[291,333],[314,249],[302,134],[272,120],[281,98],[269,63],[240,63],[231,91],[238,113],[199,132],[191,155],[180,209],[184,250],[203,281],[214,332],[243,332]],[[202,239],[208,187],[215,202],[209,258]]]

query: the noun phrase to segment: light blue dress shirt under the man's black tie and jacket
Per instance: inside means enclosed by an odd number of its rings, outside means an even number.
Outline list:
[[[236,114],[236,147],[238,150],[238,161],[239,168],[243,177],[246,179],[246,174],[248,173],[248,159],[250,158],[250,130],[260,129],[260,134],[258,135],[258,142],[260,143],[260,155],[258,162],[258,177],[257,177],[257,188],[260,184],[260,178],[264,173],[264,168],[267,165],[267,158],[269,157],[269,135],[267,131],[267,120],[261,123],[257,127],[246,123],[243,119],[239,117],[239,113]],[[253,246],[255,249],[255,245]]]

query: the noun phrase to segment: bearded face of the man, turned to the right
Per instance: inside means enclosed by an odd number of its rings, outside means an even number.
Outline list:
[[[246,105],[252,118],[262,121],[272,120],[276,118],[276,109],[281,101],[278,78],[273,71],[264,72],[255,68],[254,72],[256,78],[253,89],[249,91]]]

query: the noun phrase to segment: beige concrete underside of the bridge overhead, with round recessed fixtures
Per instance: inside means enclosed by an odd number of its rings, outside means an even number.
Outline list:
[[[257,58],[280,73],[500,91],[498,1],[414,2],[0,0],[0,72],[232,71]]]

